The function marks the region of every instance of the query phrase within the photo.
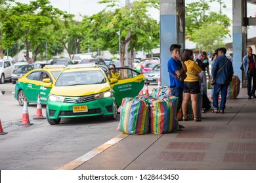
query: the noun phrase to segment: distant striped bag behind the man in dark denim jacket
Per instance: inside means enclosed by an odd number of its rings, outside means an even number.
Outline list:
[[[240,79],[238,76],[232,76],[232,81],[228,85],[227,99],[236,99],[240,93]]]

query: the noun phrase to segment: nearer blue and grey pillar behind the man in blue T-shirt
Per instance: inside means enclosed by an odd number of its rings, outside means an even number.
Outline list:
[[[184,0],[160,0],[161,85],[169,86],[167,63],[171,44],[181,44],[181,53],[185,48]]]

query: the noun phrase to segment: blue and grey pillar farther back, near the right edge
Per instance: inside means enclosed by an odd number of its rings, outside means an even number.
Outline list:
[[[233,67],[234,75],[244,80],[240,65],[247,47],[247,1],[233,0]]]

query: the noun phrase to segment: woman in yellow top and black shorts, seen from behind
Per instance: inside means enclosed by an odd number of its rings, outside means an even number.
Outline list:
[[[198,95],[200,93],[200,76],[198,73],[201,73],[201,68],[198,66],[196,61],[194,61],[193,51],[184,50],[182,58],[186,65],[186,79],[184,80],[184,97],[182,100],[182,112],[183,112],[183,121],[188,120],[188,101],[192,101],[192,109],[194,114],[194,121],[199,122],[201,119],[198,118]]]

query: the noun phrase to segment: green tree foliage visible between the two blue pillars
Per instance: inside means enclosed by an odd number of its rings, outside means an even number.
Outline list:
[[[211,0],[221,2],[221,0]],[[186,5],[186,37],[201,50],[212,51],[223,46],[224,38],[230,36],[227,27],[230,18],[221,12],[211,12],[209,2],[198,1]]]

